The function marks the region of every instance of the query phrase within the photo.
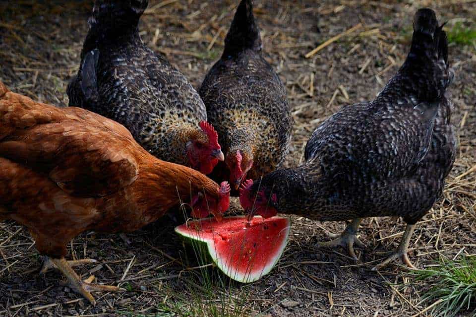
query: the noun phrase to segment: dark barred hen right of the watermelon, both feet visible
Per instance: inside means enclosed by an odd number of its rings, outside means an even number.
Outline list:
[[[351,224],[325,246],[354,243],[362,218],[399,216],[407,223],[398,249],[374,269],[401,258],[416,223],[442,195],[457,142],[450,123],[453,78],[442,26],[431,9],[414,20],[410,53],[375,100],[344,107],[322,123],[305,148],[305,162],[261,181],[243,183],[240,203],[251,216],[294,213]]]

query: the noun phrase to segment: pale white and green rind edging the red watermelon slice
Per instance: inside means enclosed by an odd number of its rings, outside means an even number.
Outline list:
[[[255,216],[255,218],[260,217],[260,216]],[[224,219],[243,219],[244,216],[231,216],[231,217],[226,217]],[[291,221],[289,218],[285,217],[273,217],[274,219],[285,219],[287,222],[287,226],[285,227],[285,237],[283,240],[283,243],[278,250],[278,253],[272,258],[272,260],[269,261],[267,265],[263,267],[261,272],[259,274],[251,274],[251,273],[238,273],[236,270],[233,269],[232,266],[223,264],[222,261],[219,261],[218,259],[218,254],[216,253],[216,250],[214,248],[214,241],[209,240],[209,239],[202,239],[200,238],[197,234],[194,234],[191,231],[181,231],[180,227],[183,225],[180,225],[175,228],[175,232],[188,244],[195,244],[198,242],[199,246],[198,249],[201,250],[201,248],[207,250],[208,253],[208,258],[213,261],[213,263],[218,267],[220,271],[222,271],[225,275],[230,277],[232,280],[235,280],[240,283],[252,283],[257,280],[259,280],[261,277],[265,276],[271,270],[274,268],[276,263],[278,262],[279,258],[283,254],[286,246],[288,245],[288,239],[289,239],[289,233],[291,231]],[[193,221],[199,221],[200,219],[193,220]],[[234,271],[234,272],[233,272]]]

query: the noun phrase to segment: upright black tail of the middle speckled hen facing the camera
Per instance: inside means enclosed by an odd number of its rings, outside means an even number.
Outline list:
[[[233,55],[244,49],[261,50],[261,38],[254,20],[252,0],[241,0],[239,3],[225,38],[223,55]]]

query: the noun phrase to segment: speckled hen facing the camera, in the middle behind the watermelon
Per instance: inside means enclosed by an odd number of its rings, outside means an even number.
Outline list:
[[[225,170],[238,190],[246,175],[256,179],[283,163],[293,118],[286,88],[261,52],[251,0],[242,0],[225,38],[221,59],[199,89],[209,122],[225,152]]]

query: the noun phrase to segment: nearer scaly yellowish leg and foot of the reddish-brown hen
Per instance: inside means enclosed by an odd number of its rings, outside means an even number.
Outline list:
[[[91,292],[119,292],[124,289],[117,286],[97,285],[91,284],[94,280],[94,275],[88,279],[81,281],[78,274],[71,268],[68,261],[64,257],[51,258],[51,261],[61,271],[61,273],[68,279],[68,286],[79,294],[83,295],[93,306],[96,306],[96,301],[91,295]]]

